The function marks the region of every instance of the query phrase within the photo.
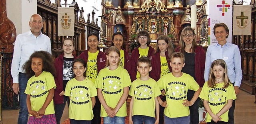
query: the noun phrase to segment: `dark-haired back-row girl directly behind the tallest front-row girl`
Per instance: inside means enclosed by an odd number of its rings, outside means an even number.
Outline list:
[[[125,51],[124,47],[124,35],[120,32],[117,31],[116,33],[113,34],[112,36],[112,43],[111,46],[115,46],[119,49],[120,51],[120,63],[119,66],[126,69],[128,73],[130,74],[130,55],[127,51]]]

